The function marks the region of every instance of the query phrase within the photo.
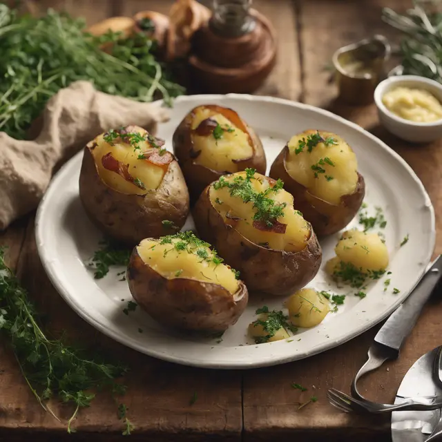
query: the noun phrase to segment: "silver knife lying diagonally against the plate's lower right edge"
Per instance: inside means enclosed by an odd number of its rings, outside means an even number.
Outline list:
[[[359,394],[356,383],[367,372],[381,367],[387,359],[399,356],[403,341],[412,331],[417,318],[421,314],[425,302],[430,298],[434,287],[442,276],[442,258],[439,255],[427,268],[423,277],[412,290],[405,301],[393,312],[374,337],[374,343],[368,350],[367,362],[356,374],[352,383],[352,394],[357,398],[364,398]]]

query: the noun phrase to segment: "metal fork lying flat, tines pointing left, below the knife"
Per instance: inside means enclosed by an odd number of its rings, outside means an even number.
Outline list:
[[[438,410],[442,408],[442,397],[414,397],[406,398],[403,403],[390,404],[390,403],[376,403],[372,401],[361,401],[356,398],[352,398],[348,394],[340,392],[334,388],[331,388],[327,392],[327,398],[329,402],[336,408],[343,412],[356,412],[361,414],[383,414],[402,411],[430,411]]]

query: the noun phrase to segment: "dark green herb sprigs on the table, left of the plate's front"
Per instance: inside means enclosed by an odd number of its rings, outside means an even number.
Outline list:
[[[89,407],[92,389],[112,387],[115,394],[125,388],[115,380],[126,373],[123,365],[114,365],[66,343],[64,338],[48,336],[35,306],[19,280],[6,265],[5,249],[0,248],[0,333],[15,354],[21,373],[41,407],[52,416],[48,399],[72,403],[75,410],[68,419],[68,432],[81,408]],[[56,419],[59,420],[57,416]]]

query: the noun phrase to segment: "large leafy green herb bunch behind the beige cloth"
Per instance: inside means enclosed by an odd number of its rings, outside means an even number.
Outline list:
[[[144,32],[120,38],[94,37],[85,23],[48,10],[42,17],[19,15],[0,4],[0,130],[22,139],[48,99],[73,81],[91,81],[97,90],[151,102],[184,93],[173,83]],[[101,50],[111,44],[111,53]]]

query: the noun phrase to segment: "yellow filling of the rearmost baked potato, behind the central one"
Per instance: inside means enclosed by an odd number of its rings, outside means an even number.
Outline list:
[[[198,135],[198,127],[204,120],[217,123],[215,131]],[[213,126],[215,125],[213,123]],[[237,172],[238,164],[232,160],[245,160],[253,155],[253,148],[248,133],[235,126],[224,115],[209,108],[197,108],[191,125],[193,149],[198,153],[195,164],[213,171]]]

